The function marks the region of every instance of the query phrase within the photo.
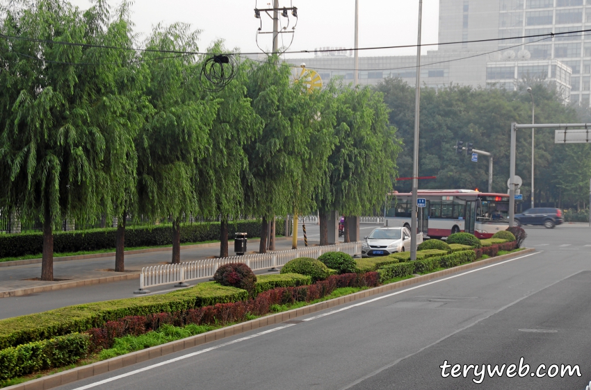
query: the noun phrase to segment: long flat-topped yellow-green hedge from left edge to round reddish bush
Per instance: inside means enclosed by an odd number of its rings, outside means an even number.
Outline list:
[[[86,303],[3,319],[0,320],[0,349],[100,328],[107,321],[124,316],[174,313],[247,298],[248,292],[243,289],[205,282],[168,294]]]

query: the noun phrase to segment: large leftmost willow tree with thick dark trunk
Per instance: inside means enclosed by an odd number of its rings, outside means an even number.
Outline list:
[[[62,0],[19,5],[1,10],[0,200],[42,221],[41,279],[53,280],[54,226],[110,214],[111,178],[126,174],[111,162],[127,161],[130,147],[120,91],[133,51],[99,47],[130,40],[105,1],[84,13]]]

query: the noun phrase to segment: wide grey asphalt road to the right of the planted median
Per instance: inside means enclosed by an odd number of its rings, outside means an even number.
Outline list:
[[[59,389],[583,390],[591,380],[591,229],[527,231],[527,246],[542,251]],[[525,378],[485,375],[480,384],[470,372],[443,378],[440,367],[519,366],[521,357],[531,366]],[[570,364],[581,376],[531,377],[542,363],[540,374]]]

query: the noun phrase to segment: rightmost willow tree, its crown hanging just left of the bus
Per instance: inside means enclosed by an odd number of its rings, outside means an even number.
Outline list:
[[[327,244],[327,213],[359,216],[384,203],[397,175],[400,142],[389,126],[389,110],[380,92],[369,87],[331,85],[337,144],[328,158],[325,186],[318,196],[321,244]]]

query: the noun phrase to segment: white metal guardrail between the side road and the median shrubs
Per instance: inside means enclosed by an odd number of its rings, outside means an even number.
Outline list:
[[[298,257],[312,257],[317,259],[323,253],[343,252],[349,255],[361,254],[362,243],[347,242],[336,245],[312,246],[302,249],[291,249],[273,253],[259,253],[255,255],[223,257],[221,259],[196,260],[180,264],[166,264],[161,266],[148,266],[140,273],[140,289],[133,291],[134,294],[147,294],[148,287],[170,285],[177,283],[175,287],[186,287],[185,282],[202,278],[211,278],[218,268],[228,263],[244,263],[252,269],[274,269],[284,266],[287,262]]]

